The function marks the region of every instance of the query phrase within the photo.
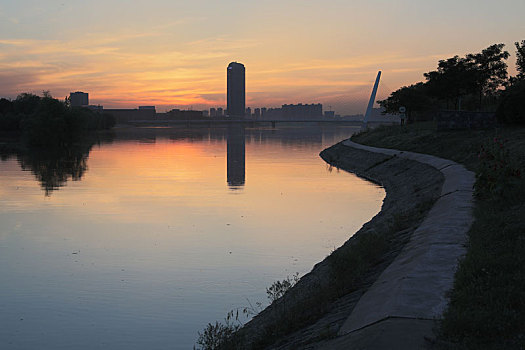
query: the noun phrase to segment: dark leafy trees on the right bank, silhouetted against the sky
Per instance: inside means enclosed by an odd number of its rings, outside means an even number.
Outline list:
[[[509,77],[504,44],[479,53],[454,56],[424,73],[425,82],[403,86],[378,101],[388,113],[405,107],[408,122],[430,119],[442,109],[496,112],[501,123],[525,120],[525,40],[515,43],[515,77]]]

